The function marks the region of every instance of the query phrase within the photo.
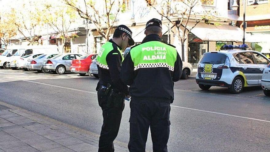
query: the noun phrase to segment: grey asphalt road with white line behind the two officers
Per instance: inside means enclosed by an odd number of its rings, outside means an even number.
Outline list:
[[[66,74],[0,69],[0,101],[100,133],[102,111],[95,91],[98,79]],[[194,79],[175,83],[168,151],[270,151],[270,98],[260,87],[238,95],[213,87],[201,91]],[[117,137],[129,141],[126,101]],[[147,150],[152,150],[151,135]]]

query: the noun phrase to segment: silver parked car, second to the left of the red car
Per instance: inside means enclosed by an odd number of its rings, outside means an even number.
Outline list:
[[[51,72],[50,70],[46,70],[44,68],[42,68],[42,64],[43,64],[43,61],[45,59],[51,59],[52,57],[55,57],[56,55],[58,54],[43,54],[43,55],[40,55],[38,57],[35,57],[31,60],[28,60],[28,63],[26,64],[26,67],[28,69],[33,69],[34,71],[37,71],[37,72],[44,72],[44,73],[48,73],[48,72]]]

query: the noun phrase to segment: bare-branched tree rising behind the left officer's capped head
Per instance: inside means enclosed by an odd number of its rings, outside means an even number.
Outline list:
[[[117,21],[117,15],[120,10],[122,10],[122,5],[119,0],[62,1],[64,1],[67,6],[76,10],[81,18],[87,19],[93,23],[97,32],[107,41],[109,40],[111,29],[113,29],[114,23]],[[96,53],[96,48],[94,48],[94,53]]]

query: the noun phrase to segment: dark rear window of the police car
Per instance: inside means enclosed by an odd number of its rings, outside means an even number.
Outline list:
[[[227,56],[222,53],[205,53],[200,60],[203,64],[225,64]]]

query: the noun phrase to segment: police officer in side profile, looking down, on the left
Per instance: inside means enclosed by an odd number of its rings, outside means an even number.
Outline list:
[[[119,25],[113,38],[101,46],[97,57],[99,82],[98,104],[102,108],[103,125],[98,143],[98,152],[113,152],[124,109],[124,97],[129,95],[128,86],[120,79],[123,61],[122,49],[134,45],[132,32],[125,25]]]

